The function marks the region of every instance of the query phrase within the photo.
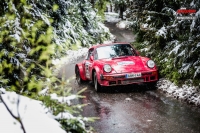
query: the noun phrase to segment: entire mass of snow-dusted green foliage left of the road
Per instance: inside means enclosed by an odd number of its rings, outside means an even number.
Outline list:
[[[52,59],[108,38],[87,0],[1,0],[0,88],[41,100],[54,115],[77,113],[81,105],[61,104],[48,95],[70,95],[66,81],[52,74]],[[39,95],[44,88],[47,95]],[[81,117],[58,121],[66,131],[86,132]]]

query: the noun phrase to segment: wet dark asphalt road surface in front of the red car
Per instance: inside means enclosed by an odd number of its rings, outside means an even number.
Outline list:
[[[122,35],[122,30],[111,27]],[[59,76],[74,77],[74,65],[63,66]],[[200,133],[200,108],[166,97],[159,90],[131,85],[104,88],[97,93],[91,83],[78,85],[73,79],[70,84],[73,92],[87,88],[82,93],[85,98],[75,103],[87,104],[83,116],[99,118],[87,123],[97,133]]]

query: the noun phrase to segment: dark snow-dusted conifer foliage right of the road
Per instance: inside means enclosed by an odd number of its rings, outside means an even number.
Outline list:
[[[181,7],[196,9],[196,19],[178,20]],[[127,10],[138,47],[145,48],[145,53],[156,59],[160,73],[176,83],[199,83],[199,7],[198,0],[136,0]]]

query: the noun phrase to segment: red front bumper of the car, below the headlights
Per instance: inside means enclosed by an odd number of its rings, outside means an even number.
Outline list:
[[[101,74],[99,84],[102,86],[116,86],[116,85],[127,85],[127,84],[141,84],[146,82],[155,82],[158,80],[158,72],[141,72],[140,77],[126,78],[124,74]]]

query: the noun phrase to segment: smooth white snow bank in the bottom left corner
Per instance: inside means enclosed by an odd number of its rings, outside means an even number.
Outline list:
[[[7,92],[0,88],[2,99],[10,111],[20,117],[27,133],[65,133],[54,116],[43,106],[42,102]],[[16,121],[0,101],[0,132],[23,133],[21,125]]]

